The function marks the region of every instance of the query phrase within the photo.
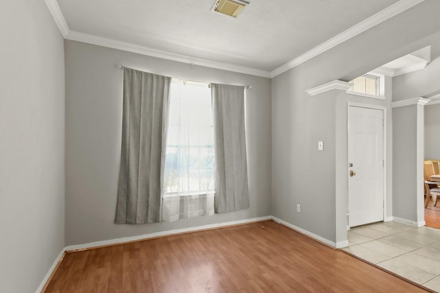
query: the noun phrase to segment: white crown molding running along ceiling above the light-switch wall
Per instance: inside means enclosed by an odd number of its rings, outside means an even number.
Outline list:
[[[371,27],[374,27],[375,25],[378,25],[386,21],[387,19],[391,19],[391,17],[396,16],[397,14],[404,12],[409,8],[412,8],[413,6],[423,1],[425,0],[400,0],[389,6],[388,8],[385,8],[384,10],[377,12],[373,16],[370,16],[368,19],[365,19],[364,21],[353,25],[353,27],[350,27],[348,30],[345,30],[344,32],[334,36],[333,38],[330,38],[324,43],[314,47],[314,49],[305,52],[305,54],[295,58],[290,62],[287,62],[285,65],[281,65],[281,67],[278,67],[277,69],[271,71],[270,75],[272,78],[274,78],[276,75],[280,75],[281,73],[292,69],[300,65],[301,63],[311,58],[314,58],[319,54],[322,54],[325,51],[336,47],[337,45],[340,45],[341,43],[344,43],[346,40],[349,40],[350,38],[353,38],[354,36],[357,36],[358,34],[365,32],[366,30],[369,30]]]

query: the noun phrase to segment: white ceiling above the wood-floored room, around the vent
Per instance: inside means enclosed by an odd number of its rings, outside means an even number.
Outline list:
[[[97,44],[98,39],[111,40],[188,62],[193,58],[267,73],[353,27],[357,34],[362,32],[358,23],[368,22],[371,27],[421,1],[250,0],[234,19],[212,12],[214,0],[57,0],[58,16],[55,0],[46,0],[61,29],[65,19],[68,39]],[[334,45],[338,42],[327,49]]]

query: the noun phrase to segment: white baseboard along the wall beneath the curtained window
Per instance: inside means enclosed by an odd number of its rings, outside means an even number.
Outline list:
[[[90,243],[86,243],[86,244],[76,244],[76,245],[66,246],[65,250],[66,251],[81,250],[81,249],[94,248],[94,247],[104,246],[104,245],[122,244],[125,242],[150,239],[150,238],[154,238],[154,237],[162,237],[162,236],[175,235],[175,234],[187,233],[187,232],[195,232],[195,231],[201,231],[201,230],[206,230],[206,229],[211,229],[211,228],[221,228],[221,227],[225,227],[225,226],[232,226],[232,225],[237,225],[237,224],[247,224],[247,223],[259,222],[259,221],[265,221],[265,220],[272,220],[272,216],[267,215],[265,217],[259,217],[259,218],[252,218],[252,219],[237,220],[237,221],[232,221],[232,222],[223,222],[223,223],[217,223],[217,224],[208,224],[208,225],[203,225],[203,226],[161,231],[161,232],[155,232],[155,233],[148,233],[148,234],[144,234],[144,235],[122,237],[122,238],[109,239],[109,240],[103,240],[103,241],[98,241],[98,242],[90,242]]]

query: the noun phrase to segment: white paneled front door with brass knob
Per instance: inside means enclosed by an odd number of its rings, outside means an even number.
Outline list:
[[[384,112],[349,106],[349,226],[384,220]]]

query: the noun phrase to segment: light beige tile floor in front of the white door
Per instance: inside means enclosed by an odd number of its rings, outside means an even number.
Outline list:
[[[440,230],[381,222],[348,231],[348,253],[440,292]]]

